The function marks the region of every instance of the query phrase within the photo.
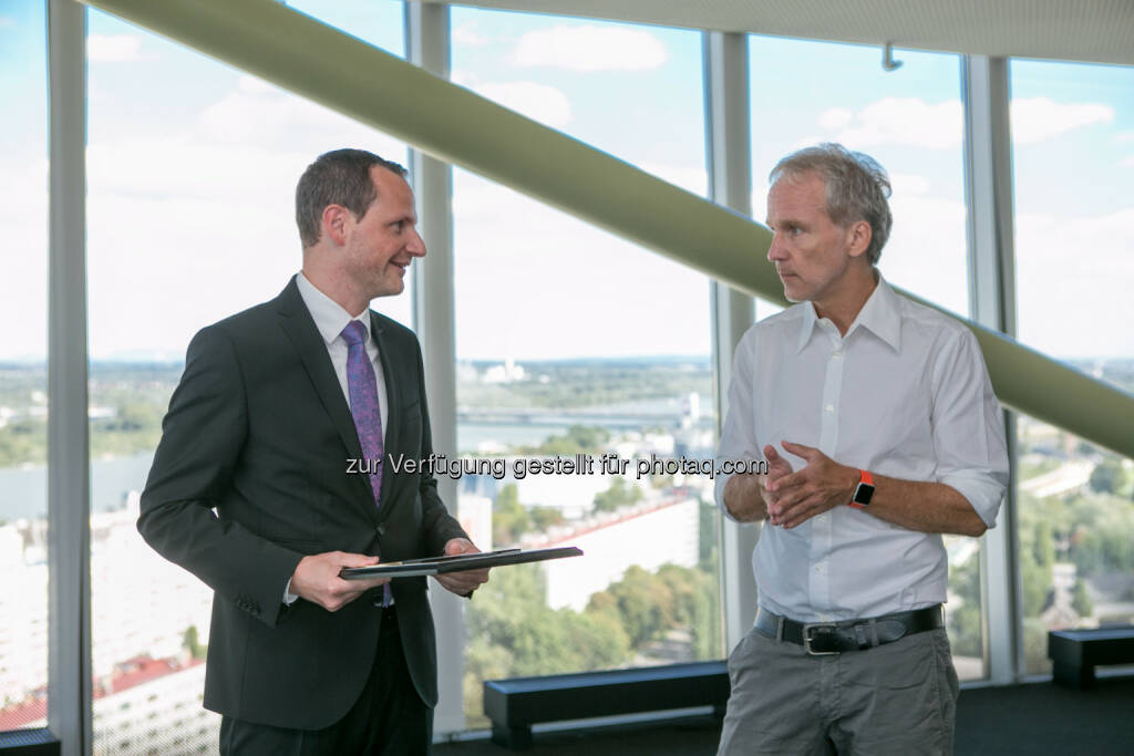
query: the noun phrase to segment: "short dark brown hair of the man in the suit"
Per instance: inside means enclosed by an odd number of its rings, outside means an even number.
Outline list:
[[[355,219],[366,214],[371,203],[378,198],[374,181],[370,178],[370,169],[374,165],[406,177],[405,168],[365,150],[324,152],[307,165],[295,187],[295,222],[299,227],[304,249],[319,241],[323,211],[328,205],[342,205]]]

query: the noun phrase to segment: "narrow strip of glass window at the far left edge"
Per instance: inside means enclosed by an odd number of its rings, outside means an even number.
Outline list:
[[[0,731],[48,715],[44,2],[0,6]]]

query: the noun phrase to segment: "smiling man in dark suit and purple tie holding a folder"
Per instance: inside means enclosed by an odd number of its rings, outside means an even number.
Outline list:
[[[425,579],[339,577],[477,551],[435,478],[396,464],[432,453],[417,339],[369,309],[425,254],[405,172],[358,150],[307,168],[302,272],[194,337],[162,425],[138,530],[215,592],[204,705],[225,754],[429,750]]]

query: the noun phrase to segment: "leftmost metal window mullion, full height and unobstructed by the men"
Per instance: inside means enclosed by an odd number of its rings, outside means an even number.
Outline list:
[[[48,725],[91,753],[86,9],[48,2]]]

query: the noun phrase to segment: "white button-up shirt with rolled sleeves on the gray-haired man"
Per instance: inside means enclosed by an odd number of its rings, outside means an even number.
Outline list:
[[[810,301],[748,329],[728,402],[718,465],[764,459],[772,444],[799,470],[805,461],[780,443],[802,443],[872,474],[945,483],[996,524],[1008,453],[976,338],[881,277],[845,337]],[[722,509],[727,482],[717,479]],[[948,584],[939,534],[891,525],[869,506],[792,529],[764,523],[752,569],[760,604],[805,622],[943,603]]]

